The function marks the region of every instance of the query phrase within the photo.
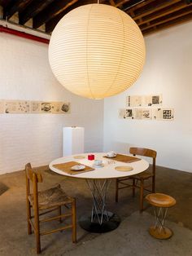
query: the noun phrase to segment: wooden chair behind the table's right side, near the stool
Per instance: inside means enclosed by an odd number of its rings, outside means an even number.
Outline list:
[[[139,210],[143,210],[143,197],[144,191],[155,193],[155,159],[157,152],[148,148],[130,148],[129,152],[133,156],[151,157],[153,159],[152,170],[142,172],[141,174],[136,174],[133,176],[116,179],[116,202],[119,197],[119,190],[123,188],[132,188],[133,196],[135,196],[135,188],[140,189],[140,203]],[[151,180],[150,184],[144,183],[146,180]]]

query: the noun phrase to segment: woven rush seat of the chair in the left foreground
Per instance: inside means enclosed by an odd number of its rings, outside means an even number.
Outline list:
[[[28,200],[34,206],[33,194],[28,196]],[[41,210],[62,205],[63,201],[65,203],[71,203],[72,198],[67,196],[63,189],[60,188],[60,185],[38,192],[38,207]]]

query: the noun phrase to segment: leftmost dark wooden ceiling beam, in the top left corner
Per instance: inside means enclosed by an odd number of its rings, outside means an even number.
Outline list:
[[[14,4],[7,5],[7,7],[3,10],[3,19],[9,20],[12,15],[17,11],[23,11],[25,7],[28,6],[30,2],[33,0],[17,0],[14,1]]]

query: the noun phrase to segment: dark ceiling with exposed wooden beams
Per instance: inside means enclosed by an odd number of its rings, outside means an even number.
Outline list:
[[[19,24],[33,20],[33,29],[45,25],[51,33],[68,11],[97,0],[0,0],[3,19],[19,15]],[[129,14],[136,21],[143,35],[166,29],[175,24],[192,20],[192,0],[100,0]]]

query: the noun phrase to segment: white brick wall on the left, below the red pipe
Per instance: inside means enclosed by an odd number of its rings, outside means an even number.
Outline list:
[[[85,152],[103,150],[103,100],[72,95],[50,71],[48,46],[0,34],[0,99],[68,101],[72,113],[0,114],[0,174],[62,156],[63,126],[85,127]]]

